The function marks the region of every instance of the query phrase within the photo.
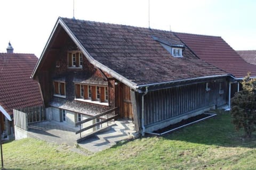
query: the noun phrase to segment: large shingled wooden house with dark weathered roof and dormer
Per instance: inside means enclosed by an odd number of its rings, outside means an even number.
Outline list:
[[[57,20],[32,77],[48,120],[75,126],[118,107],[142,135],[227,105],[233,79],[171,31],[67,18]]]

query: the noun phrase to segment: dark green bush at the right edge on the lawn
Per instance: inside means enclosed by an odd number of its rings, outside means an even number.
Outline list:
[[[251,138],[256,130],[256,79],[250,74],[242,81],[243,90],[231,99],[231,116],[236,129],[244,129],[246,137]]]

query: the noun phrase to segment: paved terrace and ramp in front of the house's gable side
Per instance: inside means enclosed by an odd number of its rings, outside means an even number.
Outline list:
[[[100,132],[78,145],[91,152],[98,152],[115,145],[118,141],[134,138],[134,124],[130,120],[117,120],[109,123],[108,131]],[[75,134],[79,128],[57,121],[43,121],[29,124],[28,137],[45,140],[57,145],[74,147],[80,138]]]

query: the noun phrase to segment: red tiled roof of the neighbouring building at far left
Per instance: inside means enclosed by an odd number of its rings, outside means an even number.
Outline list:
[[[37,82],[30,79],[37,60],[34,54],[0,53],[0,105],[10,115],[13,108],[43,104]]]

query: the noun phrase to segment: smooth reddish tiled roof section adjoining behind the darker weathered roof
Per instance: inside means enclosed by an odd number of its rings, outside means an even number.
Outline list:
[[[251,76],[256,76],[256,66],[245,62],[221,37],[178,32],[175,32],[175,35],[199,58],[236,78],[245,77],[247,72],[251,72]]]

